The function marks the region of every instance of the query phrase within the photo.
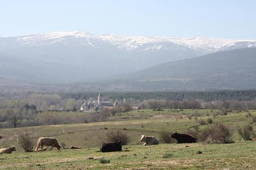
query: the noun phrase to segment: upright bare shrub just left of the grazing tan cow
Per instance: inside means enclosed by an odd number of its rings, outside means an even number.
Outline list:
[[[18,135],[18,143],[25,152],[33,152],[33,142],[28,132],[24,132]]]

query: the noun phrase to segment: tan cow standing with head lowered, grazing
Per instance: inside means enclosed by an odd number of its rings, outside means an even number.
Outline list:
[[[38,148],[41,146],[41,149],[43,151],[43,146],[51,146],[51,149],[53,147],[56,147],[58,150],[60,150],[61,146],[58,144],[58,141],[56,138],[50,138],[50,137],[41,137],[37,141],[37,147],[36,151],[38,151]]]

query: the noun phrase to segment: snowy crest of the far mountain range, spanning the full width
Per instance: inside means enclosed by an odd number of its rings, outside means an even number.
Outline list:
[[[114,34],[92,34],[90,32],[85,32],[85,31],[51,32],[51,33],[31,34],[28,36],[2,37],[2,38],[6,38],[6,39],[14,38],[16,39],[17,42],[20,42],[23,44],[36,44],[36,42],[38,41],[46,41],[50,39],[63,38],[67,36],[73,36],[75,38],[85,38],[85,39],[98,39],[101,41],[109,42],[112,45],[118,45],[120,46],[121,49],[126,48],[130,50],[136,49],[137,47],[142,46],[142,44],[153,43],[153,42],[154,43],[173,42],[175,44],[189,47],[190,49],[200,49],[200,50],[204,49],[204,50],[210,50],[210,51],[216,51],[222,47],[225,47],[225,46],[228,46],[229,44],[237,43],[237,42],[256,42],[256,40],[252,40],[252,39],[244,40],[244,39],[224,39],[224,38],[209,38],[209,37],[175,38],[175,37],[157,37],[157,36],[116,36]],[[134,46],[132,46],[132,43],[134,43]],[[203,46],[206,43],[208,44],[208,47]],[[94,46],[93,44],[91,45]]]

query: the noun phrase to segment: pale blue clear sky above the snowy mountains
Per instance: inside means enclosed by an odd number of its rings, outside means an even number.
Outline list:
[[[0,37],[56,31],[256,39],[256,1],[0,1]]]

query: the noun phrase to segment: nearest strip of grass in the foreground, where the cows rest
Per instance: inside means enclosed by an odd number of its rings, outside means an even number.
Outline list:
[[[61,149],[0,156],[6,169],[255,169],[256,142],[232,144],[159,144],[124,146],[123,152],[99,148]],[[196,154],[196,151],[203,152]],[[92,159],[88,159],[92,157]],[[102,164],[100,159],[110,160]]]

